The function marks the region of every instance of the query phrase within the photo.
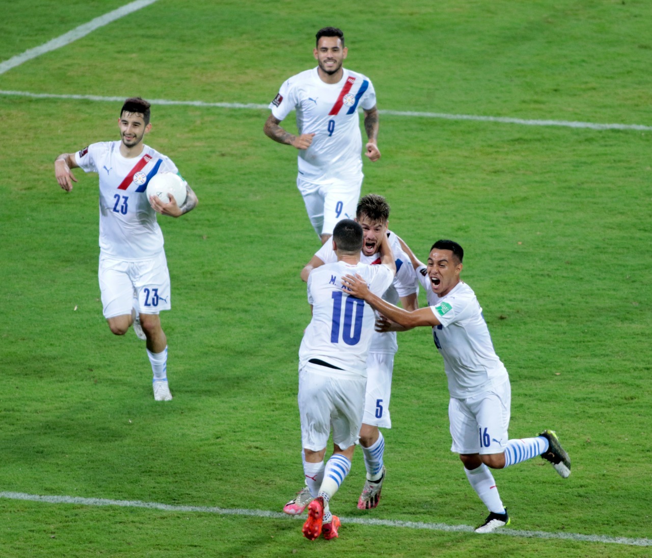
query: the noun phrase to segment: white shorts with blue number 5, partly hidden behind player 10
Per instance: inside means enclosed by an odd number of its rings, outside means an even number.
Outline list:
[[[392,394],[394,355],[370,352],[367,357],[367,386],[364,395],[363,423],[391,428],[389,397]]]

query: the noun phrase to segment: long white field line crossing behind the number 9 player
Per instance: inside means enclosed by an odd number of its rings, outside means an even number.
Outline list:
[[[29,93],[29,91],[5,91],[0,89],[0,95],[15,97],[30,97],[31,99],[71,99],[77,101],[123,102],[124,97],[100,97],[99,95],[58,95],[56,93]],[[170,101],[169,99],[148,99],[151,104],[201,106],[206,108],[249,108],[267,109],[267,104],[253,102],[205,102],[205,101]],[[507,116],[475,116],[472,114],[444,114],[441,112],[410,112],[404,110],[378,110],[380,114],[390,116],[406,116],[417,118],[443,118],[447,120],[475,120],[479,122],[497,122],[503,124],[520,124],[526,126],[563,126],[568,128],[588,128],[593,130],[642,130],[652,131],[652,126],[642,124],[599,124],[593,122],[569,122],[565,120],[527,120]]]

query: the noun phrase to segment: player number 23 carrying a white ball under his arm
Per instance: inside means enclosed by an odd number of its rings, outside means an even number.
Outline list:
[[[168,157],[143,144],[143,137],[152,128],[149,116],[149,102],[140,97],[126,99],[118,119],[120,140],[63,153],[54,162],[54,172],[67,192],[77,181],[71,168],[99,174],[98,276],[104,317],[115,335],[125,335],[134,324],[136,335],[146,340],[154,399],[170,401],[168,341],[158,315],[170,309],[170,273],[156,212],[180,217],[195,208],[197,196],[186,183],[186,200],[181,207],[174,196],[167,204],[156,196],[147,199],[147,183],[157,172],[178,174]]]

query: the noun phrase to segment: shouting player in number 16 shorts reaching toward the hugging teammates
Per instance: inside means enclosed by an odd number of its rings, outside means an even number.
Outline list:
[[[509,377],[492,345],[475,293],[460,279],[462,247],[438,240],[424,266],[405,243],[417,277],[426,289],[428,307],[408,312],[376,296],[360,275],[342,278],[354,296],[363,298],[385,317],[404,326],[431,326],[435,345],[448,377],[451,451],[460,455],[471,486],[487,506],[489,515],[475,529],[490,533],[509,525],[509,516],[498,495],[491,469],[504,469],[541,456],[563,478],[571,474],[571,459],[557,435],[544,430],[537,437],[507,436],[511,405]]]

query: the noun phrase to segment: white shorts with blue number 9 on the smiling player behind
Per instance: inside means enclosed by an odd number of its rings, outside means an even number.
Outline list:
[[[355,219],[362,185],[362,174],[351,181],[333,180],[325,184],[308,182],[301,175],[297,177],[308,219],[318,236],[333,234],[334,226],[342,219]]]

